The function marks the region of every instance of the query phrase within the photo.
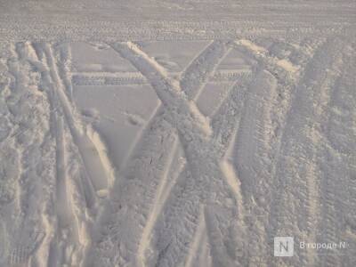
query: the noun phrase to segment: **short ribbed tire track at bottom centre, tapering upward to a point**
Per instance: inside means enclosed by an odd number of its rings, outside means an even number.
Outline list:
[[[186,167],[166,200],[165,213],[156,227],[153,243],[158,255],[152,259],[152,265],[179,266],[186,261],[198,229],[201,200],[195,187],[196,182]]]

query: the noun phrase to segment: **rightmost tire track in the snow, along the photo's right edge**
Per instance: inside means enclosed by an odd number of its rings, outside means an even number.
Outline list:
[[[352,129],[352,115],[355,114],[355,52],[350,44],[343,46],[344,64],[340,68],[340,77],[333,86],[329,100],[329,116],[321,125],[324,139],[319,158],[321,174],[321,193],[325,199],[320,221],[320,242],[346,241],[348,247],[338,251],[320,252],[320,263],[335,266],[339,263],[352,264],[352,249],[356,247],[355,233],[355,147],[356,133]],[[353,180],[352,180],[353,179]],[[346,189],[346,190],[345,190]],[[353,233],[353,234],[352,234]]]

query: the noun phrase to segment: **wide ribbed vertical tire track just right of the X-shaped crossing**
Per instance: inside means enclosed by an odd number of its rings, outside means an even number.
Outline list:
[[[271,116],[278,81],[266,70],[257,70],[254,80],[248,89],[233,158],[241,182],[245,220],[252,236],[249,252],[255,257],[265,257],[268,242],[265,240],[267,225],[264,218],[269,212],[266,204],[272,184],[271,139],[274,133]]]

